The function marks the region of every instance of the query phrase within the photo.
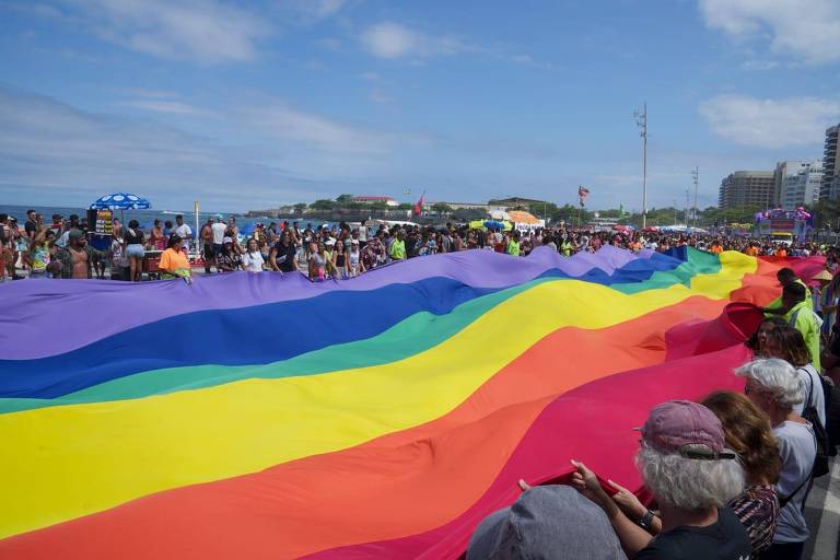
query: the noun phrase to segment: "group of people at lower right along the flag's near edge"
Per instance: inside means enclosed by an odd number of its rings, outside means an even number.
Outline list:
[[[840,444],[840,329],[837,300],[815,311],[793,270],[778,279],[782,296],[746,342],[754,360],[733,373],[744,392],[651,410],[635,457],[651,503],[572,460],[570,486],[521,480],[520,499],[476,528],[467,560],[800,560],[805,502]]]

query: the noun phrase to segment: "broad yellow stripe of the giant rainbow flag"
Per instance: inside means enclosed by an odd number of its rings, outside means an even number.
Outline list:
[[[692,295],[726,298],[756,262],[722,260],[721,272],[697,277],[690,290],[626,295],[575,280],[539,284],[396,363],[2,415],[0,537],[428,422],[553,330],[609,327]]]

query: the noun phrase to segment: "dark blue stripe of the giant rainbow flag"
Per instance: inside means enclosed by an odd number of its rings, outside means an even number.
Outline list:
[[[606,285],[637,283],[680,264],[679,259],[654,255],[632,260],[611,276],[592,269],[576,279]],[[553,269],[540,278],[570,277]],[[450,313],[464,302],[499,290],[429,278],[368,292],[330,292],[306,300],[167,317],[63,354],[1,360],[0,397],[56,398],[164,368],[277,362],[374,337],[419,312]]]

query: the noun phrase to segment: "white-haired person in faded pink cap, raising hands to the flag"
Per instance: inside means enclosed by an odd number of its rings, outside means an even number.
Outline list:
[[[670,400],[651,410],[637,455],[645,486],[660,506],[662,533],[648,532],[654,514],[631,520],[583,463],[572,462],[572,486],[600,505],[629,558],[746,560],[747,530],[726,505],[745,487],[735,453],[724,448],[721,421],[702,405]]]

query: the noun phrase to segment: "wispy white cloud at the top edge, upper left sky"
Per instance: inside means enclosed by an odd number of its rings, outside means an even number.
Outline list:
[[[62,0],[100,37],[148,55],[202,63],[256,56],[265,20],[217,0]]]

